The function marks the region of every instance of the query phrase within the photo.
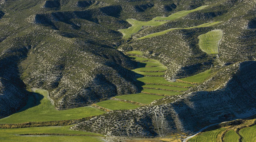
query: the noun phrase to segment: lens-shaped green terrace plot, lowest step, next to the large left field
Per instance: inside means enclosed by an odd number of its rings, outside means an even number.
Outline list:
[[[96,103],[96,105],[107,108],[107,109],[111,109],[111,110],[135,109],[139,107],[138,105],[121,102],[118,100],[105,100],[105,101]]]

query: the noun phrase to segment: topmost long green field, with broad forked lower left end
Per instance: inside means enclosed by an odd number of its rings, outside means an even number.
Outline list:
[[[129,27],[128,29],[119,29],[119,31],[123,34],[123,38],[131,38],[132,35],[134,33],[139,32],[143,26],[162,25],[162,24],[165,24],[169,21],[181,18],[182,16],[185,16],[185,15],[191,13],[191,12],[204,9],[207,6],[208,5],[200,6],[200,7],[197,7],[196,9],[192,9],[192,10],[179,11],[179,12],[176,12],[176,13],[168,16],[168,17],[157,16],[157,17],[155,17],[152,20],[147,21],[147,22],[146,21],[138,21],[138,20],[135,20],[135,19],[127,19],[126,21],[129,22],[132,25],[132,27]]]

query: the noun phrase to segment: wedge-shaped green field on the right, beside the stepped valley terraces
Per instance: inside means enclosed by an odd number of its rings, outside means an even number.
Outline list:
[[[202,83],[210,75],[211,75],[211,69],[208,69],[202,73],[198,73],[197,75],[189,76],[186,78],[181,78],[180,80],[186,81],[186,82]]]

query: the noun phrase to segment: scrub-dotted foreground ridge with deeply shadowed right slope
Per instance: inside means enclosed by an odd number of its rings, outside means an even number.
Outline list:
[[[218,74],[222,78],[234,75],[221,89],[195,91],[168,104],[107,113],[72,129],[132,137],[191,134],[211,123],[255,114],[256,61],[230,65]],[[198,86],[198,90],[202,86]]]

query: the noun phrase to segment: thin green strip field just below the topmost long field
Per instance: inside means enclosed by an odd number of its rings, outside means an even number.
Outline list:
[[[152,34],[143,36],[143,37],[138,38],[138,39],[140,40],[140,39],[143,39],[143,38],[151,38],[151,37],[154,37],[154,36],[160,36],[160,35],[168,33],[169,31],[173,31],[173,30],[176,30],[176,29],[193,29],[193,28],[198,28],[198,27],[210,27],[210,26],[218,24],[218,23],[220,23],[220,22],[219,21],[217,21],[217,22],[209,22],[209,23],[201,24],[201,25],[194,26],[194,27],[171,28],[171,29],[167,29],[167,30],[160,31],[160,32],[157,32],[157,33],[152,33]]]

